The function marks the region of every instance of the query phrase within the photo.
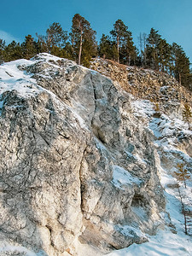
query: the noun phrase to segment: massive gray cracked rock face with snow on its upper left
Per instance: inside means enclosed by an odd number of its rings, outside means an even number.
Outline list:
[[[15,68],[18,77],[11,81],[1,68],[3,246],[61,256],[86,255],[89,244],[101,255],[154,234],[165,200],[130,96],[101,74],[47,54],[13,61],[10,74]]]

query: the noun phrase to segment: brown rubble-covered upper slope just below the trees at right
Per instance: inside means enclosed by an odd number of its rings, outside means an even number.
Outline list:
[[[159,103],[162,110],[168,112],[175,110],[180,107],[180,102],[192,104],[191,91],[180,86],[177,80],[167,73],[128,67],[103,59],[95,59],[90,67],[112,79],[114,83],[120,84],[123,90],[136,98]]]

